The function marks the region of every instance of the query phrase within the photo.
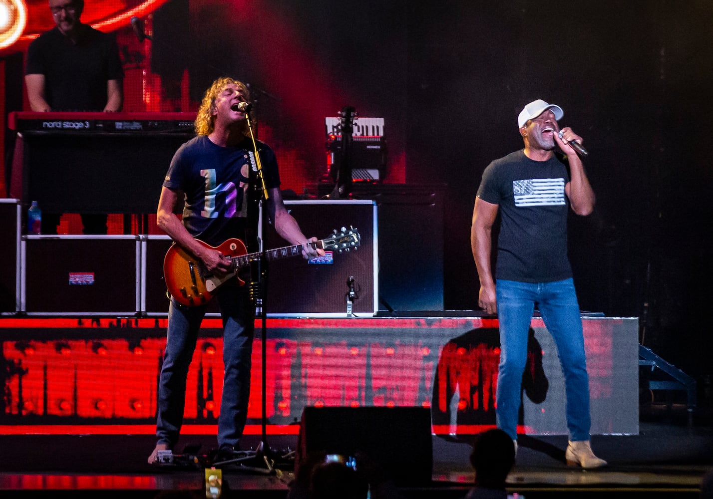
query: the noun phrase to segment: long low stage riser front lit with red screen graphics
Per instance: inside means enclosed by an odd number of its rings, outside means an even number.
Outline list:
[[[26,321],[3,322],[11,403],[0,425],[153,422],[165,319],[115,325],[91,319]],[[272,425],[296,423],[305,406],[431,407],[435,433],[478,433],[495,424],[496,321],[269,319],[268,325]],[[557,352],[541,319],[531,325],[543,353],[533,369],[548,379],[549,389],[542,403],[523,396],[521,430],[567,433]],[[638,433],[637,319],[585,319],[584,326],[592,433]],[[217,421],[221,351],[220,321],[206,319],[188,375],[186,423]],[[261,415],[260,351],[255,339],[248,413],[253,421]]]

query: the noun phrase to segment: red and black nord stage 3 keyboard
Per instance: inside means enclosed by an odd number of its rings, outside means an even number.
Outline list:
[[[8,128],[48,133],[190,133],[195,113],[74,113],[32,111],[8,114]]]

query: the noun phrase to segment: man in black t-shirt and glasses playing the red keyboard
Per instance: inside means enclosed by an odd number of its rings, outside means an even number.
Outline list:
[[[120,111],[123,68],[116,39],[80,21],[84,0],[49,0],[56,26],[27,50],[25,85],[34,111]],[[69,147],[69,146],[68,146]],[[60,214],[42,214],[56,234]],[[84,234],[106,234],[107,215],[82,214]]]

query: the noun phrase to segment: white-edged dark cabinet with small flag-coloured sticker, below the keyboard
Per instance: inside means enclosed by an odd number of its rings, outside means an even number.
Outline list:
[[[20,311],[34,315],[135,315],[140,244],[133,235],[21,238]]]

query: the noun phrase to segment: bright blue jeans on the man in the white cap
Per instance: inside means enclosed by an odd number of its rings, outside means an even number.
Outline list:
[[[501,354],[496,417],[513,439],[520,409],[520,390],[528,356],[528,329],[535,303],[557,345],[565,377],[570,440],[590,439],[589,376],[579,304],[572,279],[556,282],[496,281]]]

